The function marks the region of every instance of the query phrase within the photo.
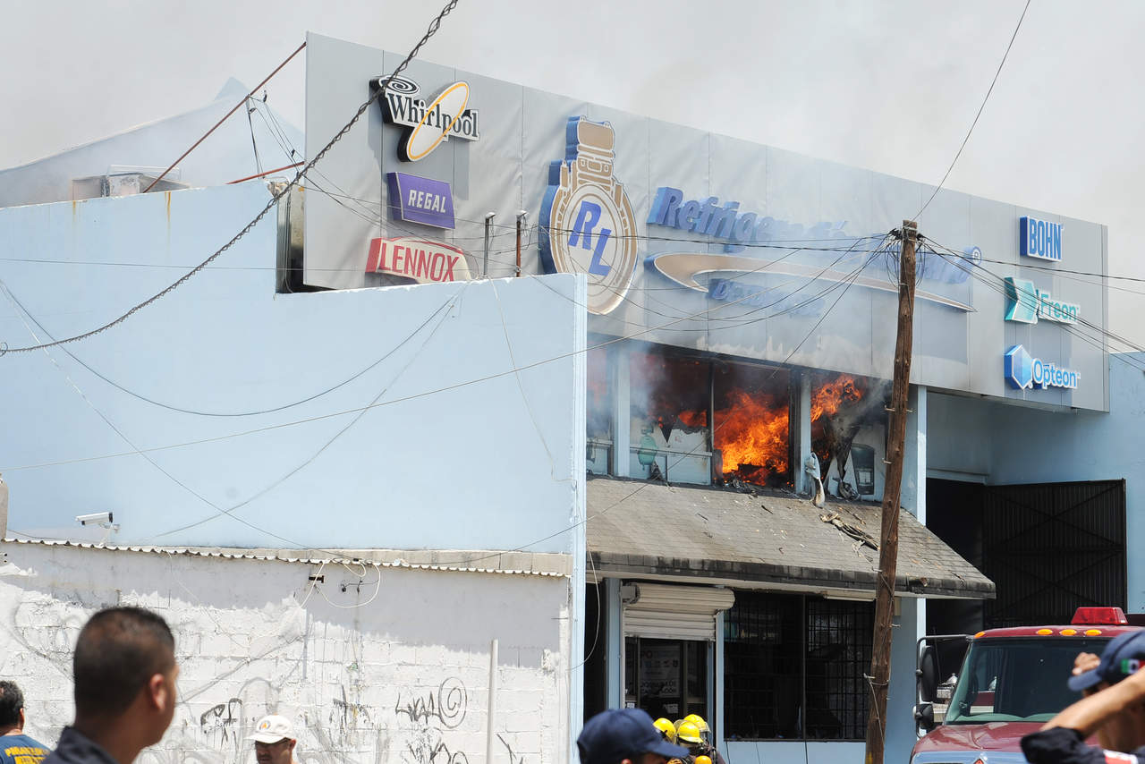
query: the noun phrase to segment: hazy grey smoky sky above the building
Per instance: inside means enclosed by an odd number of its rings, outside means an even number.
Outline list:
[[[421,57],[937,183],[1024,6],[460,0]],[[436,0],[9,5],[0,167],[203,105],[229,77],[254,86],[308,30],[405,52],[439,9]],[[1145,279],[1132,234],[1145,206],[1142,39],[1137,0],[1032,0],[946,187],[1107,225],[1110,274]],[[300,55],[267,87],[299,127],[303,73]],[[1145,283],[1112,283],[1131,291],[1111,291],[1111,329],[1145,345]]]

